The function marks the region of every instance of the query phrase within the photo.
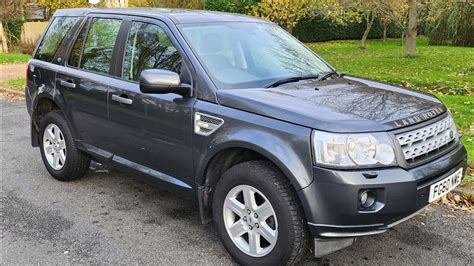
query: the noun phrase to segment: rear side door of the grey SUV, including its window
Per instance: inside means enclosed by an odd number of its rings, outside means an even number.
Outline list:
[[[114,79],[121,25],[118,17],[88,17],[71,47],[66,68],[56,77],[70,108],[76,138],[105,157],[112,155],[114,146],[109,137],[107,90]]]

